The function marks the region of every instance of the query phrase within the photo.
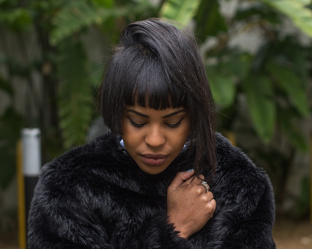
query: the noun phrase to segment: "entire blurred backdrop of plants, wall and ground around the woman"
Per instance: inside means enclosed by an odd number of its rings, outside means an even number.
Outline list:
[[[103,133],[95,108],[128,23],[173,19],[197,36],[217,129],[269,174],[277,248],[312,248],[311,0],[0,0],[0,248],[19,248],[17,141],[42,164]]]

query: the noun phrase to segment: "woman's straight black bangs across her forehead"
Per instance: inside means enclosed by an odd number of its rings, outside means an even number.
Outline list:
[[[142,56],[142,53],[144,56]],[[121,89],[121,98],[126,106],[138,104],[144,108],[163,110],[166,108],[188,108],[188,97],[182,88],[179,88],[168,75],[155,54],[146,51],[137,53],[131,51],[122,64],[128,64],[129,70],[120,70],[124,75]],[[139,70],[131,70],[131,68]],[[117,84],[118,85],[118,84]]]

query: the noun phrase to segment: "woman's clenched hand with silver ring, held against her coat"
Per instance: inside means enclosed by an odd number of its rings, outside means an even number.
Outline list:
[[[206,193],[203,180],[198,177],[192,181],[193,174],[194,171],[178,172],[167,189],[168,221],[185,239],[199,231],[216,209],[212,192]]]

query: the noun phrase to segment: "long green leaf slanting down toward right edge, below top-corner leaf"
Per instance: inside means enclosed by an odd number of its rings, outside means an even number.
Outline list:
[[[267,69],[278,85],[289,96],[300,114],[303,116],[309,115],[309,101],[305,89],[302,87],[301,79],[293,71],[273,62],[267,64]]]

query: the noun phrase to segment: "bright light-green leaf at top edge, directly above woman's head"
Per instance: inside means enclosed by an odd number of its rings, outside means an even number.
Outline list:
[[[160,9],[162,18],[187,25],[195,16],[201,0],[168,0]]]

